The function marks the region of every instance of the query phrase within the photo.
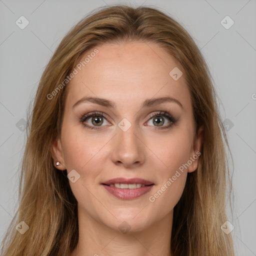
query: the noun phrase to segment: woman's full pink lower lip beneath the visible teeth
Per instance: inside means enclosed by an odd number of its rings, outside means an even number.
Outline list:
[[[116,196],[119,199],[124,199],[124,200],[130,200],[130,199],[134,199],[137,198],[145,193],[147,193],[153,185],[148,185],[148,186],[141,186],[141,187],[137,187],[134,189],[129,189],[129,188],[118,188],[115,186],[108,186],[108,185],[104,185],[104,188],[111,194],[113,194],[114,196]]]

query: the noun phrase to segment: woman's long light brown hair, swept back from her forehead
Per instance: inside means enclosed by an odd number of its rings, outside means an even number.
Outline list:
[[[66,170],[54,167],[51,154],[52,143],[60,135],[68,83],[51,99],[47,95],[63,82],[85,51],[128,40],[157,43],[180,63],[186,73],[196,132],[204,127],[198,167],[188,173],[174,207],[172,255],[234,255],[231,234],[220,228],[227,220],[225,194],[230,195],[231,180],[226,164],[228,143],[208,67],[191,36],[173,18],[157,8],[113,5],[79,21],[62,39],[41,76],[27,120],[19,207],[2,241],[2,256],[69,256],[75,248],[77,201]],[[29,227],[23,234],[15,228],[20,221]]]

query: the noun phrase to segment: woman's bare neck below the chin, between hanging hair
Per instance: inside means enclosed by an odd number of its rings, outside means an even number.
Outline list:
[[[79,206],[78,206],[79,207]],[[140,231],[122,232],[78,210],[79,238],[70,256],[171,256],[173,211]]]

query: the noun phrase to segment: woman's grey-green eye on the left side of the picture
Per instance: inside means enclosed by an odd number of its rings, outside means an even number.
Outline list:
[[[105,122],[104,122],[105,119]],[[107,117],[104,115],[104,113],[102,112],[92,112],[92,113],[87,113],[84,114],[81,118],[80,118],[80,122],[85,126],[88,127],[90,129],[97,129],[96,126],[100,127],[100,126],[104,126],[102,124],[109,124],[108,121],[106,120]],[[89,123],[89,125],[85,124],[85,121],[87,121]]]

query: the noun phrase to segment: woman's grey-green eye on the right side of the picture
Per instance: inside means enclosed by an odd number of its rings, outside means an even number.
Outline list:
[[[150,115],[150,120],[148,120],[147,122],[151,123],[151,124],[148,124],[150,126],[154,126],[155,129],[163,129],[163,128],[168,128],[170,126],[172,126],[172,124],[176,123],[176,119],[171,115],[169,114],[168,112],[166,111],[159,111],[158,113],[154,113],[154,114],[151,114]],[[167,121],[166,121],[167,119]],[[164,125],[165,123],[168,123],[168,125]]]

